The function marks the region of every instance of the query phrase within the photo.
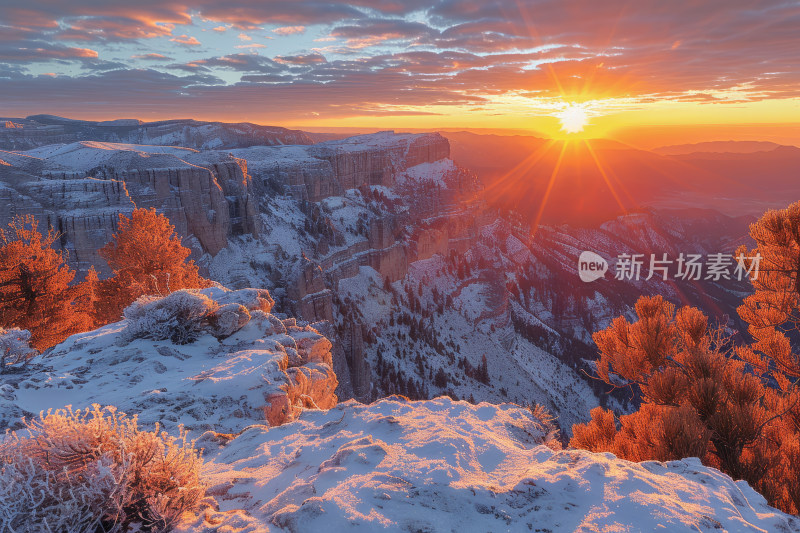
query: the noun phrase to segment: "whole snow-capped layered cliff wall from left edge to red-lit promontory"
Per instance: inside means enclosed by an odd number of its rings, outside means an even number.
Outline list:
[[[76,131],[84,126],[69,125]],[[137,140],[163,138],[148,128],[152,135]],[[230,151],[95,141],[49,145],[0,155],[6,162],[0,201],[18,206],[0,213],[0,224],[17,213],[35,214],[62,233],[60,244],[75,267],[95,265],[102,275],[97,250],[111,238],[118,214],[155,207],[195,258],[205,254],[218,279],[285,290],[285,311],[333,322],[340,281],[362,267],[394,282],[414,261],[474,242],[485,211],[476,201],[477,180],[448,155],[439,134],[392,132]],[[256,239],[238,239],[246,235]],[[240,251],[231,251],[234,243]],[[225,264],[212,264],[221,250]],[[248,264],[250,272],[243,273]],[[366,398],[366,330],[347,324],[331,332],[341,340],[343,394]]]

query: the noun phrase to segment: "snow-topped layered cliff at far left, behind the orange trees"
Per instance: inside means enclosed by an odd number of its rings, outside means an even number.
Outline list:
[[[229,154],[185,148],[80,142],[5,153],[0,225],[33,214],[62,234],[73,266],[95,265],[118,215],[134,207],[164,213],[198,254],[216,254],[228,237],[258,233],[247,164]]]

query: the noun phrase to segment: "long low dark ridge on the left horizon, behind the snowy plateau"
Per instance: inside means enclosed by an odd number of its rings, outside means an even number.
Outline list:
[[[136,119],[94,122],[71,120],[52,115],[33,115],[5,121],[0,128],[0,149],[30,150],[38,146],[78,141],[186,146],[199,150],[312,144],[299,130],[250,123],[203,122],[197,120],[162,120],[142,122]]]

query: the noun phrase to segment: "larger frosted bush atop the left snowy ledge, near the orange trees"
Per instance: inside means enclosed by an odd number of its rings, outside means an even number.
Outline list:
[[[197,290],[175,291],[164,297],[142,296],[125,309],[126,342],[134,339],[171,340],[175,344],[194,341],[208,326],[208,317],[218,305]]]

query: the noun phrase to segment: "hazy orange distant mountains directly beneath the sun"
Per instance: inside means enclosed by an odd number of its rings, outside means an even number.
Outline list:
[[[529,222],[595,225],[647,206],[760,215],[800,198],[795,146],[724,141],[664,155],[605,139],[443,135],[453,160],[484,182],[487,201]]]

